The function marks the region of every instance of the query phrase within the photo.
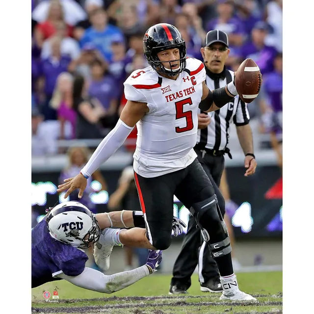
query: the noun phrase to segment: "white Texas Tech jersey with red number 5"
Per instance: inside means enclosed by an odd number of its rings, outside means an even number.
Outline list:
[[[136,70],[124,82],[127,100],[147,103],[149,112],[136,124],[134,171],[151,178],[185,168],[197,157],[198,105],[206,78],[202,61],[187,58],[176,80],[152,68]]]

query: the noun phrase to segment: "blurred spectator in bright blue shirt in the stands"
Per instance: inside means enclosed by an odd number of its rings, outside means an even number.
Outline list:
[[[120,28],[107,24],[107,14],[102,8],[92,11],[90,19],[92,26],[86,29],[80,40],[80,45],[83,47],[84,44],[93,43],[105,60],[110,60],[112,57],[112,39],[117,37],[124,39],[124,35]]]

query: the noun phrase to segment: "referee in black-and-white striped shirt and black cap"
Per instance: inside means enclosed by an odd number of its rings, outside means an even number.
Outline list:
[[[206,69],[206,84],[210,90],[227,85],[234,78],[234,72],[227,70],[225,62],[230,50],[228,36],[221,30],[211,30],[206,35],[206,44],[201,48]],[[212,114],[212,116],[209,116]],[[224,154],[231,154],[228,145],[228,130],[234,122],[240,145],[245,155],[245,176],[255,172],[257,163],[253,154],[252,130],[249,126],[247,105],[236,96],[221,109],[210,112],[199,112],[197,144],[194,147],[215,189],[222,215],[225,214],[225,200],[219,190],[221,175],[224,169]],[[210,123],[209,123],[210,122]],[[196,265],[199,266],[201,291],[222,292],[217,264],[210,256],[209,246],[203,245],[201,231],[193,216],[190,215],[187,233],[184,236],[181,252],[173,267],[173,277],[169,294],[187,293],[191,286],[191,275]]]

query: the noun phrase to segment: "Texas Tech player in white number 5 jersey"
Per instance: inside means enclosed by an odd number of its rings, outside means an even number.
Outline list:
[[[176,195],[194,215],[216,259],[223,287],[220,299],[256,301],[238,288],[228,231],[212,184],[193,150],[198,108],[205,112],[221,108],[237,95],[235,84],[230,82],[210,91],[205,83],[203,62],[186,57],[182,35],[169,24],[157,24],[147,30],[144,54],[150,66],[134,71],[125,81],[128,102],[115,128],[80,173],[66,179],[57,191],[66,191],[66,198],[79,189],[80,198],[87,178],[116,152],[136,125],[133,168],[146,231],[123,230],[116,242],[167,249],[171,243],[173,197]],[[107,256],[106,252],[104,254]]]

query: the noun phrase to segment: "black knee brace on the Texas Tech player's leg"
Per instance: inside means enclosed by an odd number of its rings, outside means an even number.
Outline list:
[[[230,253],[232,251],[230,238],[216,195],[193,204],[190,211],[201,229],[204,240],[209,242],[212,257],[217,258]]]

